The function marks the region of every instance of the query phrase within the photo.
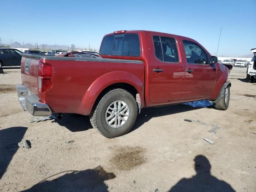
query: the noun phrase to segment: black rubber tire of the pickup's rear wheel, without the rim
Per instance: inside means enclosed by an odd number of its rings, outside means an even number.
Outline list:
[[[106,111],[113,102],[123,101],[129,108],[128,119],[118,128],[112,128],[107,123]],[[120,110],[121,111],[121,110]],[[126,134],[134,125],[137,118],[138,106],[136,100],[130,92],[123,89],[114,89],[106,93],[96,106],[94,106],[90,114],[90,122],[96,130],[107,138],[115,138]],[[115,117],[115,116],[114,116]],[[115,124],[115,123],[114,123]]]

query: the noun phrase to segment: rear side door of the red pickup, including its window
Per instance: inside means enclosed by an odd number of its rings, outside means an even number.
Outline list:
[[[182,100],[184,64],[175,38],[148,34],[150,52],[150,102]]]

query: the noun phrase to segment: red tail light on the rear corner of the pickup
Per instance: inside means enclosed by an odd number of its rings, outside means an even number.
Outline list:
[[[42,61],[38,65],[38,91],[46,92],[52,87],[52,66]]]

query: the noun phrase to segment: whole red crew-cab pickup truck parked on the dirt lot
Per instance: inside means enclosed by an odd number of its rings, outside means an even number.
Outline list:
[[[23,54],[18,99],[34,116],[90,115],[108,138],[126,134],[142,108],[211,100],[226,110],[229,69],[198,42],[134,30],[104,36],[102,58]]]

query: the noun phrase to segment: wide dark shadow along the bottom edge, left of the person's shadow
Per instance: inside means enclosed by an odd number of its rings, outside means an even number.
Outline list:
[[[66,173],[66,174],[64,174]],[[64,174],[58,178],[58,174]],[[84,171],[64,171],[50,176],[23,192],[107,192],[105,180],[114,179],[114,173],[107,173],[101,166]]]

